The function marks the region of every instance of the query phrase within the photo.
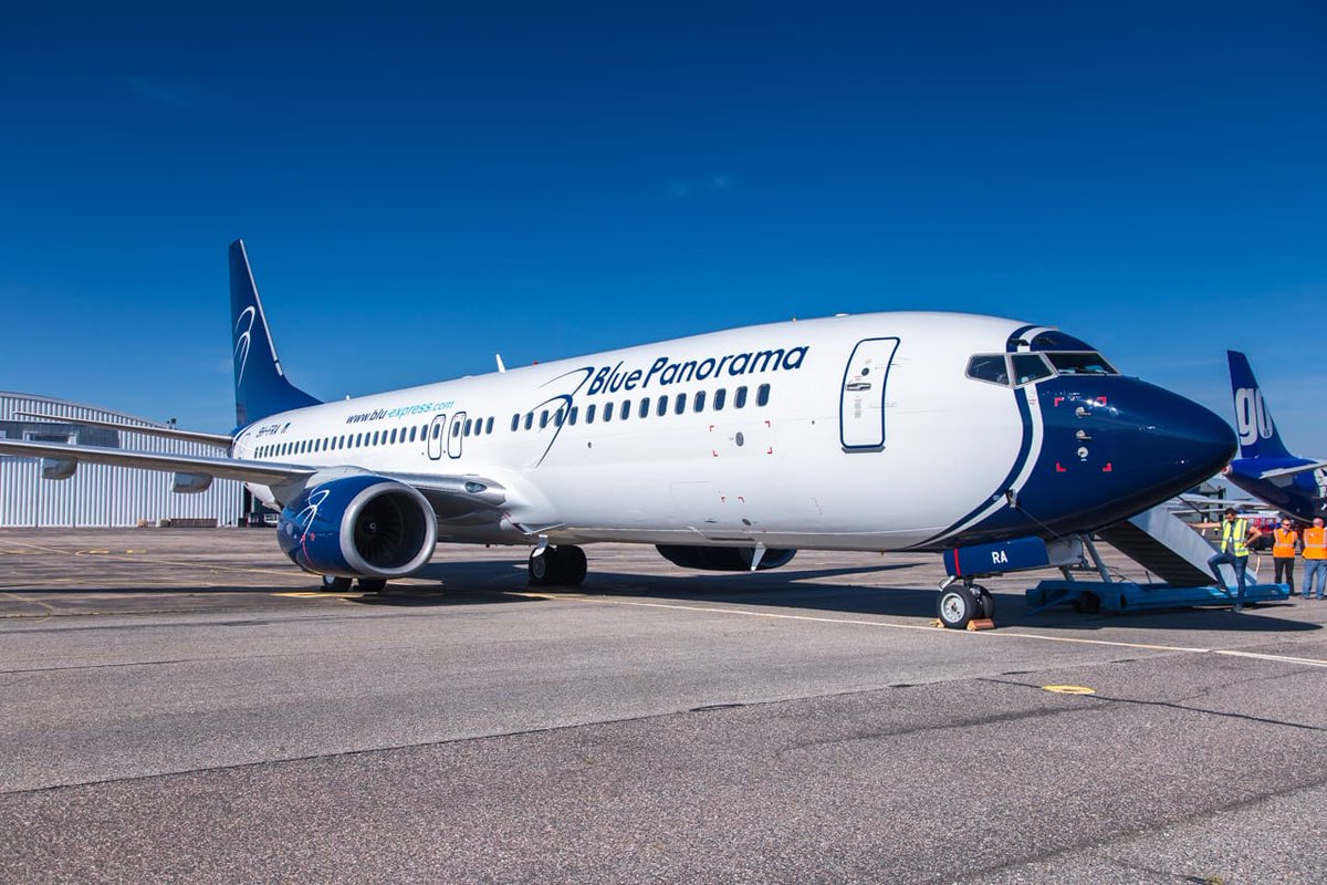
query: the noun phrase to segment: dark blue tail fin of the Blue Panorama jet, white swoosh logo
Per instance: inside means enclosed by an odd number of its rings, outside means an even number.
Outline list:
[[[276,358],[276,346],[263,314],[263,303],[257,299],[248,255],[244,253],[244,240],[231,243],[231,321],[236,427],[279,411],[318,405],[317,399],[287,381],[281,372],[281,361]]]

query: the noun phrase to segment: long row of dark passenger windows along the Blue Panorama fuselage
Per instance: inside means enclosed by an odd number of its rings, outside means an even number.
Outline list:
[[[697,390],[693,394],[679,393],[675,395],[662,394],[656,399],[645,397],[637,402],[630,399],[624,399],[618,403],[605,402],[602,406],[598,403],[592,403],[585,406],[585,423],[592,425],[596,421],[608,422],[617,417],[618,421],[626,421],[632,417],[634,411],[640,418],[649,418],[650,411],[657,417],[662,418],[669,414],[671,409],[673,414],[685,414],[687,406],[691,411],[705,411],[706,405],[711,411],[723,411],[729,406],[729,391],[727,387],[719,387],[714,391],[713,397],[709,397],[705,390]],[[738,387],[733,391],[731,405],[734,409],[744,409],[747,405],[747,389],[746,386]],[[770,405],[770,385],[764,383],[755,390],[755,405],[767,406]],[[525,430],[535,426],[539,422],[540,427],[547,427],[552,422],[556,427],[561,427],[563,423],[575,425],[581,419],[580,406],[572,406],[571,411],[564,409],[557,409],[556,411],[549,411],[544,409],[535,417],[535,413],[527,411],[524,418],[519,414],[511,417],[511,429],[520,430],[524,425]],[[284,458],[287,455],[309,455],[321,451],[342,451],[346,448],[365,448],[376,446],[401,446],[413,442],[423,442],[430,437],[438,439],[442,435],[443,422],[437,422],[433,425],[417,425],[411,427],[394,427],[391,430],[372,430],[356,434],[344,434],[340,437],[320,437],[317,439],[301,439],[284,443],[273,443],[269,446],[259,446],[255,456],[257,458]],[[492,418],[466,418],[464,422],[453,421],[451,429],[447,435],[451,438],[460,437],[478,437],[480,434],[491,434],[494,431]]]

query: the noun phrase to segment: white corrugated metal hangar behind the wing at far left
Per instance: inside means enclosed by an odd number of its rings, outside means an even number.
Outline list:
[[[68,435],[92,446],[218,454],[216,448],[191,442],[16,418],[16,411],[143,426],[153,423],[62,399],[0,391],[0,433],[12,439],[27,434],[29,439],[54,437],[60,442]],[[243,511],[244,487],[234,479],[218,479],[198,495],[176,495],[170,486],[171,474],[86,463],[80,463],[69,479],[42,479],[40,458],[0,456],[0,525],[110,527],[137,525],[139,520],[155,524],[163,519],[215,519],[218,525],[235,525]]]

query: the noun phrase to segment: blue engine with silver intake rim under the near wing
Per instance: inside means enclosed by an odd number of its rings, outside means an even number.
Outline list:
[[[402,577],[433,556],[438,521],[418,490],[365,474],[304,490],[281,511],[276,537],[314,575]]]

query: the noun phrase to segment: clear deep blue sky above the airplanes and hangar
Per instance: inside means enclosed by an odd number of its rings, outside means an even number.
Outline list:
[[[0,389],[228,430],[244,238],[322,398],[934,308],[1327,455],[1322,3],[184,5],[0,24]]]

